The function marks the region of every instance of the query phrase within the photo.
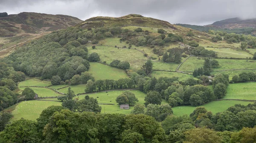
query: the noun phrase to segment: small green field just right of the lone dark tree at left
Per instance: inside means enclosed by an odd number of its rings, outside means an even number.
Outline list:
[[[38,97],[56,97],[59,96],[61,94],[55,93],[55,91],[50,90],[48,88],[42,88],[42,87],[29,87],[32,90],[34,90],[34,92],[36,94],[38,94]],[[24,90],[25,87],[20,87],[20,90]]]

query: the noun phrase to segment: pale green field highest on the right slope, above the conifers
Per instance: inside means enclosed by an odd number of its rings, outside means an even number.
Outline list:
[[[233,49],[233,48],[206,48],[207,50],[213,50],[217,52],[217,57],[221,58],[253,58],[253,55],[250,55],[244,50]]]

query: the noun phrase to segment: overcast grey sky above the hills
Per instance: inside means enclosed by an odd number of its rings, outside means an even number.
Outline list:
[[[207,25],[227,18],[255,18],[256,0],[0,0],[0,12],[121,17],[141,14],[172,24]]]

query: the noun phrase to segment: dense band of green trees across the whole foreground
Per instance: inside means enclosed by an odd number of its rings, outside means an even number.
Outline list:
[[[90,99],[93,98],[82,99],[85,108]],[[172,115],[166,104],[149,104],[146,111],[137,104],[131,113],[72,112],[65,107],[50,106],[36,122],[20,119],[6,126],[12,115],[2,112],[0,119],[6,120],[0,120],[3,123],[0,142],[249,143],[245,140],[255,139],[256,104],[236,104],[215,115],[197,107],[189,116]],[[161,123],[157,122],[165,116]]]

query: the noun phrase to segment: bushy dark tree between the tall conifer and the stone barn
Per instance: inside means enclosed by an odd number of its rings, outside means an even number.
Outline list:
[[[78,112],[95,112],[100,113],[102,107],[99,106],[96,98],[89,97],[86,95],[84,99],[78,101],[79,107]]]

